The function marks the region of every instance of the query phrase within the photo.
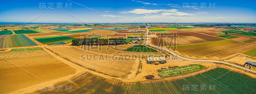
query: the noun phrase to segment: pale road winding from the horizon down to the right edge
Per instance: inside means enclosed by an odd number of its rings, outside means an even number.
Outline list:
[[[186,57],[181,57],[181,56],[179,56],[178,54],[176,54],[176,53],[174,53],[174,52],[172,52],[172,51],[169,51],[169,50],[164,49],[164,48],[162,48],[162,47],[158,47],[158,46],[154,46],[154,45],[149,44],[149,43],[148,43],[148,39],[149,39],[149,37],[148,37],[148,29],[147,29],[147,41],[146,41],[146,43],[147,43],[148,45],[152,46],[152,47],[156,47],[156,48],[159,48],[159,49],[162,49],[162,50],[166,50],[167,52],[170,52],[170,53],[171,53],[172,55],[174,55],[174,56],[177,56],[177,57],[179,57],[179,58],[186,59],[186,60],[192,60],[192,61],[216,62],[216,63],[228,64],[228,65],[231,65],[231,66],[234,66],[234,67],[237,67],[237,68],[246,70],[246,71],[250,71],[250,72],[256,73],[256,71],[253,71],[253,70],[250,70],[250,69],[246,69],[246,68],[244,68],[244,67],[237,66],[237,65],[234,65],[234,64],[230,64],[230,63],[227,63],[227,62],[215,61],[215,60],[199,60],[199,59],[190,59],[190,58],[186,58]]]

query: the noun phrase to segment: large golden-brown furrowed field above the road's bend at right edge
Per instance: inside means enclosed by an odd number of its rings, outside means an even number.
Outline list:
[[[191,45],[181,45],[168,47],[172,50],[179,51],[182,55],[187,55],[189,57],[227,57],[229,55],[235,54],[237,52],[244,53],[255,47],[252,44],[246,44],[231,40],[220,40],[215,42],[201,43],[201,44],[191,44]]]

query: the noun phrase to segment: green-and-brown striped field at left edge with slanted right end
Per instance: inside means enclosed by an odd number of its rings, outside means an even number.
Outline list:
[[[0,48],[36,46],[37,44],[23,34],[0,37]]]

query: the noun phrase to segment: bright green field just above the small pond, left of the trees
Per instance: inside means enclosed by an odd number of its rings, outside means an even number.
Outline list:
[[[62,42],[62,41],[72,42],[72,40],[75,38],[67,37],[67,36],[51,36],[51,37],[36,37],[34,39],[42,44],[50,44],[50,43],[56,43],[56,42]]]

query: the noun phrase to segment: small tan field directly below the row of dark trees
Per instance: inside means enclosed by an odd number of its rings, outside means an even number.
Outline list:
[[[90,50],[102,54],[113,54],[118,51],[126,50],[128,48],[132,47],[132,45],[98,45],[98,46],[86,46],[82,45],[79,46],[79,48],[84,49],[84,50]]]

